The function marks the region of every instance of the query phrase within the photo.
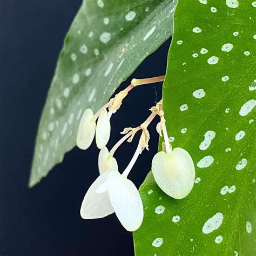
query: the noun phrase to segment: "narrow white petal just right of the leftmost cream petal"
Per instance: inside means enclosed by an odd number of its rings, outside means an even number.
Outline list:
[[[106,146],[110,137],[110,120],[107,111],[104,109],[98,118],[96,126],[96,144],[99,149]]]

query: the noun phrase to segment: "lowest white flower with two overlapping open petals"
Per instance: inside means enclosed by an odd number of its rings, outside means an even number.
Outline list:
[[[136,186],[119,172],[106,171],[85,194],[80,214],[83,219],[97,219],[113,212],[127,231],[142,224],[143,204]]]

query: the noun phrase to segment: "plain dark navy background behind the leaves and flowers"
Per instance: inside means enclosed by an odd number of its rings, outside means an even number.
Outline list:
[[[37,124],[58,52],[80,0],[0,0],[0,255],[133,255],[132,233],[114,214],[83,220],[79,209],[97,178],[98,150],[77,148],[32,189],[27,188]],[[131,78],[164,75],[170,40],[148,57]],[[123,83],[124,89],[130,82]],[[161,98],[161,84],[138,87],[111,118],[109,149],[127,126],[137,126]],[[138,104],[137,104],[138,103]],[[157,151],[156,123],[150,126],[150,151],[139,157],[129,178],[137,187]],[[116,152],[119,170],[138,142]]]

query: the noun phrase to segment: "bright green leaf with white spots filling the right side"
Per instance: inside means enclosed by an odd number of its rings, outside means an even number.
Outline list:
[[[256,254],[252,2],[177,5],[163,104],[171,144],[191,154],[196,181],[176,200],[148,175],[136,255]]]

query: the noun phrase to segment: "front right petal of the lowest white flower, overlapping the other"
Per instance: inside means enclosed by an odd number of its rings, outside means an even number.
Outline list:
[[[127,231],[137,230],[143,221],[143,204],[136,186],[119,172],[111,172],[107,192],[120,223]]]

